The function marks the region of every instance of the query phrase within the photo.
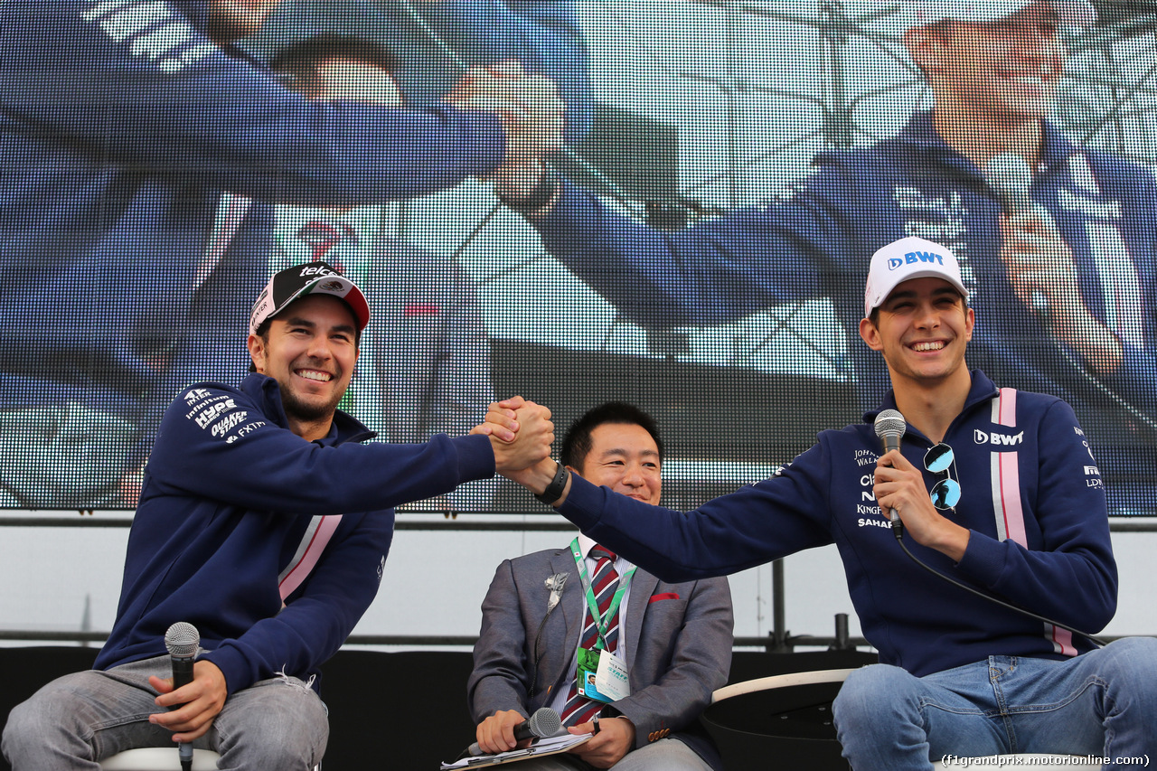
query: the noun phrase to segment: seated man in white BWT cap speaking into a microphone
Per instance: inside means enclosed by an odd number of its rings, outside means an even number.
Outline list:
[[[974,311],[951,250],[887,244],[863,300],[860,336],[892,390],[771,479],[683,513],[577,476],[557,485],[551,460],[509,476],[538,495],[551,486],[547,498],[561,487],[560,514],[665,581],[835,543],[880,660],[834,705],[858,771],[1009,752],[1157,757],[1157,639],[1098,648],[1088,636],[1113,616],[1117,566],[1073,410],[970,372]],[[886,451],[880,433],[896,435]]]

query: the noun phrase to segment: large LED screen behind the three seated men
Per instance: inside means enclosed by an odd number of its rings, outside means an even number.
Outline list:
[[[14,0],[2,30],[2,507],[132,508],[165,405],[244,377],[265,279],[315,259],[370,300],[342,406],[379,441],[460,435],[514,394],[559,433],[625,399],[690,507],[879,403],[864,278],[915,235],[960,260],[970,366],[1068,401],[1111,513],[1157,512],[1148,3],[972,68],[886,1],[285,0],[236,51],[191,0],[93,0],[73,27],[52,5]],[[266,69],[318,39],[385,50],[393,93]],[[567,100],[552,166],[597,227],[540,233],[455,171],[469,137],[366,127],[511,58]],[[1018,254],[1002,207],[1041,215]],[[411,508],[545,511],[498,480]]]

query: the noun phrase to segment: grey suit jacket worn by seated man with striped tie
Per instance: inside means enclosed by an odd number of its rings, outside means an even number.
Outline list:
[[[536,678],[535,637],[550,599],[544,581],[554,573],[568,577],[538,641]],[[529,715],[548,705],[558,689],[570,688],[585,608],[568,549],[499,565],[482,602],[482,629],[467,684],[474,722],[499,710]],[[635,725],[635,749],[672,736],[712,768],[722,768],[699,715],[710,704],[712,691],[727,682],[734,623],[725,578],[666,583],[642,568],[635,572],[624,630],[631,696],[613,705]]]

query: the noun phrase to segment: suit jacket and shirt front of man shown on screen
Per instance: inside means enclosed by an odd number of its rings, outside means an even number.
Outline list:
[[[375,216],[378,221],[370,222]],[[281,206],[270,269],[325,259],[366,293],[370,323],[344,409],[378,432],[382,441],[460,436],[478,425],[494,401],[491,345],[477,287],[450,255],[388,235],[388,220],[389,212],[381,207],[337,214]],[[330,226],[340,237],[303,237],[312,222]],[[429,507],[489,508],[498,485],[498,478],[479,479]]]

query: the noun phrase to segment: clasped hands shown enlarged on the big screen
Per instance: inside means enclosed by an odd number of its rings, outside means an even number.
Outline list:
[[[506,134],[506,155],[489,177],[510,198],[538,184],[546,159],[562,146],[565,104],[548,78],[528,74],[517,61],[474,67],[445,101],[463,110],[493,112]]]

